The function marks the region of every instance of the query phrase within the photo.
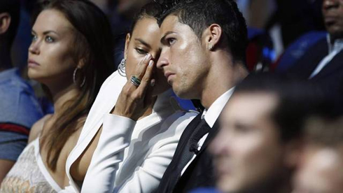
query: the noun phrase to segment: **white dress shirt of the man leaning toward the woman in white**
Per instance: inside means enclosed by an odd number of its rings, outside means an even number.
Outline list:
[[[230,90],[227,92],[224,92],[221,96],[212,103],[212,105],[209,107],[209,109],[205,109],[204,112],[202,113],[202,119],[205,119],[207,124],[209,124],[209,127],[214,127],[214,123],[218,119],[219,115],[221,115],[221,111],[223,110],[225,104],[229,101],[233,91],[235,90],[235,87],[232,87]],[[200,141],[197,143],[197,150],[200,150],[202,148],[202,145],[204,144],[207,136],[209,134],[205,134],[202,138],[200,138]],[[186,166],[183,168],[181,171],[181,176],[183,173],[186,171],[190,163],[193,162],[193,160],[197,157],[197,155],[193,155],[192,159],[186,164]]]

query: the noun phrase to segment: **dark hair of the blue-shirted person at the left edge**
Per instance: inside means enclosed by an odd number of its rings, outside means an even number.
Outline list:
[[[6,36],[8,45],[11,46],[20,21],[20,0],[1,0],[0,13],[8,13],[10,15],[10,27],[3,36]]]

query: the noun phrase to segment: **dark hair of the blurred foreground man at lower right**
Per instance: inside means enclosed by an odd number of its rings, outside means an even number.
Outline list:
[[[330,113],[332,105],[314,85],[271,73],[249,75],[235,88],[235,94],[274,94],[278,100],[272,121],[282,141],[300,137],[304,123],[311,115]]]

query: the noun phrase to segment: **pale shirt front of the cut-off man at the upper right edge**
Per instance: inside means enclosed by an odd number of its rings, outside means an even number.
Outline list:
[[[326,40],[328,41],[328,55],[325,56],[321,62],[319,62],[318,66],[316,66],[316,69],[311,73],[311,76],[309,76],[309,79],[316,76],[325,66],[328,64],[333,57],[335,57],[340,51],[343,49],[343,39],[336,39],[335,41],[331,41],[330,34],[326,36]]]

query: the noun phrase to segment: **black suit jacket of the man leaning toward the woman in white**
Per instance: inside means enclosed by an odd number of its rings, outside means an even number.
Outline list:
[[[173,179],[171,174],[176,171],[176,167],[179,163],[180,154],[185,147],[190,134],[192,134],[193,129],[197,126],[197,122],[201,119],[201,114],[197,115],[195,119],[188,124],[185,131],[183,132],[179,145],[176,148],[176,152],[172,159],[171,164],[169,164],[167,171],[163,175],[163,178],[158,187],[157,192],[188,192],[197,187],[213,187],[215,185],[215,176],[214,176],[214,165],[212,164],[212,156],[207,151],[209,143],[212,141],[214,136],[218,131],[218,120],[209,131],[204,144],[197,157],[191,162],[186,171],[183,173],[181,178]],[[176,185],[174,186],[174,180],[177,180]]]

